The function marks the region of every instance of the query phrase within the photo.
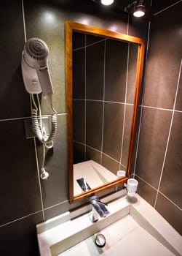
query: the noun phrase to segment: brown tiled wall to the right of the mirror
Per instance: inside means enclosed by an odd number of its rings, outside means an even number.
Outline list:
[[[182,235],[182,1],[153,1],[135,175],[138,192]]]

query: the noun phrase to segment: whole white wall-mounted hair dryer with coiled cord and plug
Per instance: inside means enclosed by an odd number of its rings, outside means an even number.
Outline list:
[[[47,65],[48,53],[49,48],[47,47],[47,44],[41,39],[33,37],[25,42],[21,61],[25,89],[26,91],[28,91],[29,94],[31,94],[31,99],[34,106],[34,108],[32,108],[31,110],[33,132],[36,134],[36,137],[41,141],[41,143],[43,143],[43,162],[41,166],[42,179],[47,179],[49,176],[49,173],[44,169],[45,146],[47,148],[53,146],[53,138],[55,137],[57,131],[57,113],[55,111],[55,108],[53,108],[52,106],[53,88],[49,68]],[[42,127],[39,127],[38,108],[33,98],[33,94],[39,94],[41,93],[41,91],[44,98],[47,99],[47,101],[50,103],[51,108],[54,112],[51,119],[52,127],[50,135],[47,135]],[[37,97],[37,99],[39,104],[39,97]]]

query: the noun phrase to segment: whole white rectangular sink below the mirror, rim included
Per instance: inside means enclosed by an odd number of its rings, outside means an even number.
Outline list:
[[[83,214],[87,208],[81,208],[37,225],[40,255],[182,255],[181,236],[143,198],[136,198],[108,203],[111,214],[95,223],[90,213]],[[103,248],[95,245],[96,233],[106,237]]]

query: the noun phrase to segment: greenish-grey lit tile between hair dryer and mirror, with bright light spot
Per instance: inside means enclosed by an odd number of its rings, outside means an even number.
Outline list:
[[[65,21],[63,9],[50,1],[23,1],[27,39],[39,37],[50,50],[49,67],[54,87],[53,103],[59,113],[66,112],[65,89]],[[41,102],[42,113],[51,112],[44,99]]]

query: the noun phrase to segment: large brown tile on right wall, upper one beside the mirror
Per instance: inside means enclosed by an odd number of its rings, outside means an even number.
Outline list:
[[[173,109],[182,55],[180,7],[182,2],[152,20],[144,105]]]

